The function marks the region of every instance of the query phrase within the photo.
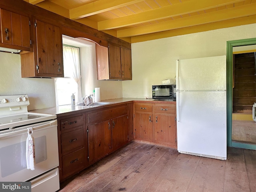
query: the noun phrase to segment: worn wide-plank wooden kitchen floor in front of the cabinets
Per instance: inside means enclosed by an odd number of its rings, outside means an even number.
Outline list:
[[[227,160],[130,142],[61,184],[60,192],[256,192],[256,151],[228,148]]]

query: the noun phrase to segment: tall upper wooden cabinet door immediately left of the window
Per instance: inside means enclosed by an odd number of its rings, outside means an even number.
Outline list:
[[[38,74],[64,76],[60,28],[36,20]]]

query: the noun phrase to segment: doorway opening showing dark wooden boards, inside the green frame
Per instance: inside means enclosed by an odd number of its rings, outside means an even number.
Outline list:
[[[256,102],[256,49],[234,51],[233,48],[233,111],[232,141],[256,144],[256,122],[252,105]]]

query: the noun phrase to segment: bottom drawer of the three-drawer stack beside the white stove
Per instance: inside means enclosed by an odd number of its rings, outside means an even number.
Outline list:
[[[85,148],[74,151],[62,157],[63,177],[70,176],[85,168],[86,165]]]

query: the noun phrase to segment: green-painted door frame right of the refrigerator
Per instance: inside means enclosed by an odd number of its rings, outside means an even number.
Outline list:
[[[227,145],[256,150],[256,145],[232,142],[232,106],[233,106],[233,47],[255,45],[256,38],[227,41]]]

